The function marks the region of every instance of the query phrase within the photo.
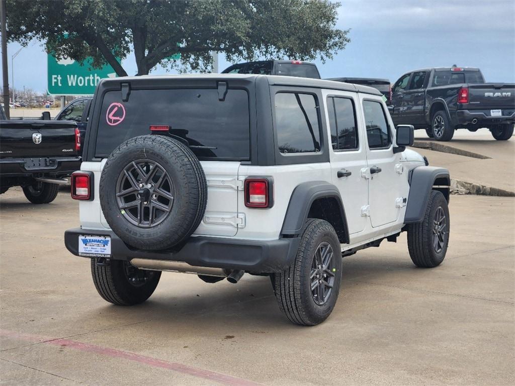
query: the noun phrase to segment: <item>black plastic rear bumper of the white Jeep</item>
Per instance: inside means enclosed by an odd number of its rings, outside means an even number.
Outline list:
[[[293,262],[300,238],[256,241],[221,237],[190,237],[181,248],[171,251],[141,251],[128,247],[112,231],[75,228],[64,233],[68,251],[79,256],[79,235],[110,236],[111,258],[131,260],[135,257],[184,261],[198,267],[238,269],[252,273],[280,272]]]

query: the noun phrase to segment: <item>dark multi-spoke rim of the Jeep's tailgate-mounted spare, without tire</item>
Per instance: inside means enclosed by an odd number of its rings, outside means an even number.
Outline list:
[[[138,227],[159,225],[174,204],[174,184],[156,161],[136,160],[119,174],[116,203],[122,216]]]

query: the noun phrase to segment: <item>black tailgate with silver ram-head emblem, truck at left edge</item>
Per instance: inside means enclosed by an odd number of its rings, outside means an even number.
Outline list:
[[[2,157],[76,156],[73,121],[6,120],[0,130]]]

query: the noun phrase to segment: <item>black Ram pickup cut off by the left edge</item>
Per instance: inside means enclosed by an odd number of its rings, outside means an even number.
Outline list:
[[[54,201],[65,177],[80,169],[74,121],[6,120],[0,108],[0,194],[21,186],[35,204]]]

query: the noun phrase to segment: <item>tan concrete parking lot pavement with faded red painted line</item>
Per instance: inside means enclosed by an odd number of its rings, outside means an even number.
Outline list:
[[[79,223],[69,193],[33,205],[13,188],[0,206],[2,384],[515,383],[513,198],[452,196],[435,269],[411,263],[405,234],[346,257],[336,309],[315,327],[289,324],[269,279],[250,275],[163,273],[145,304],[113,306],[89,259],[64,248]]]

